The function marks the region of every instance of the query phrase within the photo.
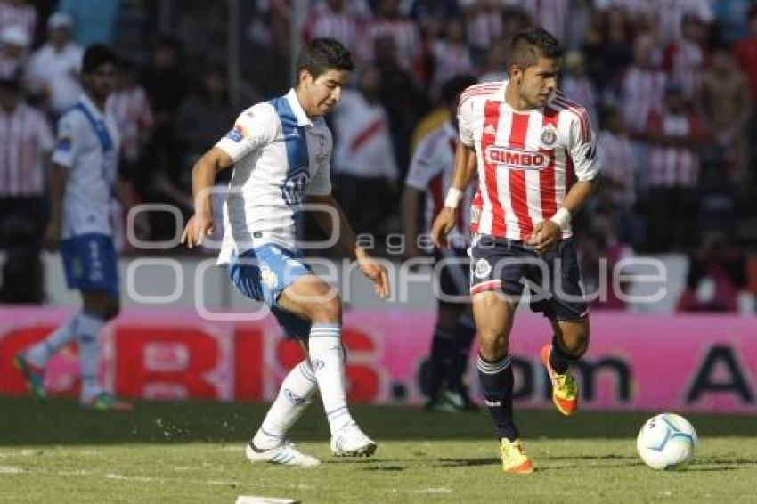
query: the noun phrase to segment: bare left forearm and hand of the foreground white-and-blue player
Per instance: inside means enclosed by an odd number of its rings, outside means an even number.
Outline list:
[[[191,170],[191,193],[194,200],[194,215],[187,222],[182,234],[182,243],[192,248],[202,244],[202,237],[214,230],[211,190],[216,184],[218,172],[232,167],[234,161],[225,150],[213,147],[195,163]]]

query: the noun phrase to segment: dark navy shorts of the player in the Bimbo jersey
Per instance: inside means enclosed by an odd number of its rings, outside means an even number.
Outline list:
[[[521,240],[481,235],[470,256],[471,294],[497,290],[518,302],[527,287],[531,309],[550,319],[574,321],[589,313],[572,239],[539,254]]]

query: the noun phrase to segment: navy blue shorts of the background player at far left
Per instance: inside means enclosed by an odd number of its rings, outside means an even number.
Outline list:
[[[110,236],[80,234],[62,240],[59,248],[69,289],[104,290],[118,297],[118,262]]]

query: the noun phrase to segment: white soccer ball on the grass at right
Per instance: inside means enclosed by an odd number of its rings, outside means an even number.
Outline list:
[[[639,430],[636,450],[647,466],[660,471],[686,468],[697,443],[694,427],[680,415],[661,413]]]

